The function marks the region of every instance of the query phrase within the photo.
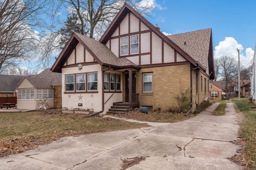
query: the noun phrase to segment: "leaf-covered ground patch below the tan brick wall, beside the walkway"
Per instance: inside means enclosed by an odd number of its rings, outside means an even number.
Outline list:
[[[148,114],[141,113],[139,111],[131,111],[125,114],[114,114],[113,116],[121,117],[121,118],[130,118],[138,121],[145,122],[162,122],[162,123],[175,123],[187,120],[189,118],[195,117],[195,114],[189,114],[185,116],[184,114],[173,114],[169,112],[163,111],[149,111]]]

